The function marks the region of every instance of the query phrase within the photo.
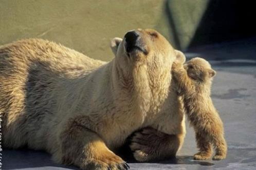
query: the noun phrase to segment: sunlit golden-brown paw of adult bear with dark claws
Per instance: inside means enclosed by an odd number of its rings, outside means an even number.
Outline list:
[[[99,158],[90,160],[82,169],[96,169],[96,170],[127,170],[129,165],[115,154],[101,155]]]

